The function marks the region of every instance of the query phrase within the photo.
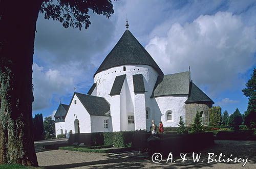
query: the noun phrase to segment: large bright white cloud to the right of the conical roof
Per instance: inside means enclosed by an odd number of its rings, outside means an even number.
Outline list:
[[[166,36],[155,36],[146,49],[165,74],[190,66],[195,83],[215,95],[240,85],[239,74],[255,64],[255,37],[255,25],[246,26],[239,16],[218,12],[169,25]]]

